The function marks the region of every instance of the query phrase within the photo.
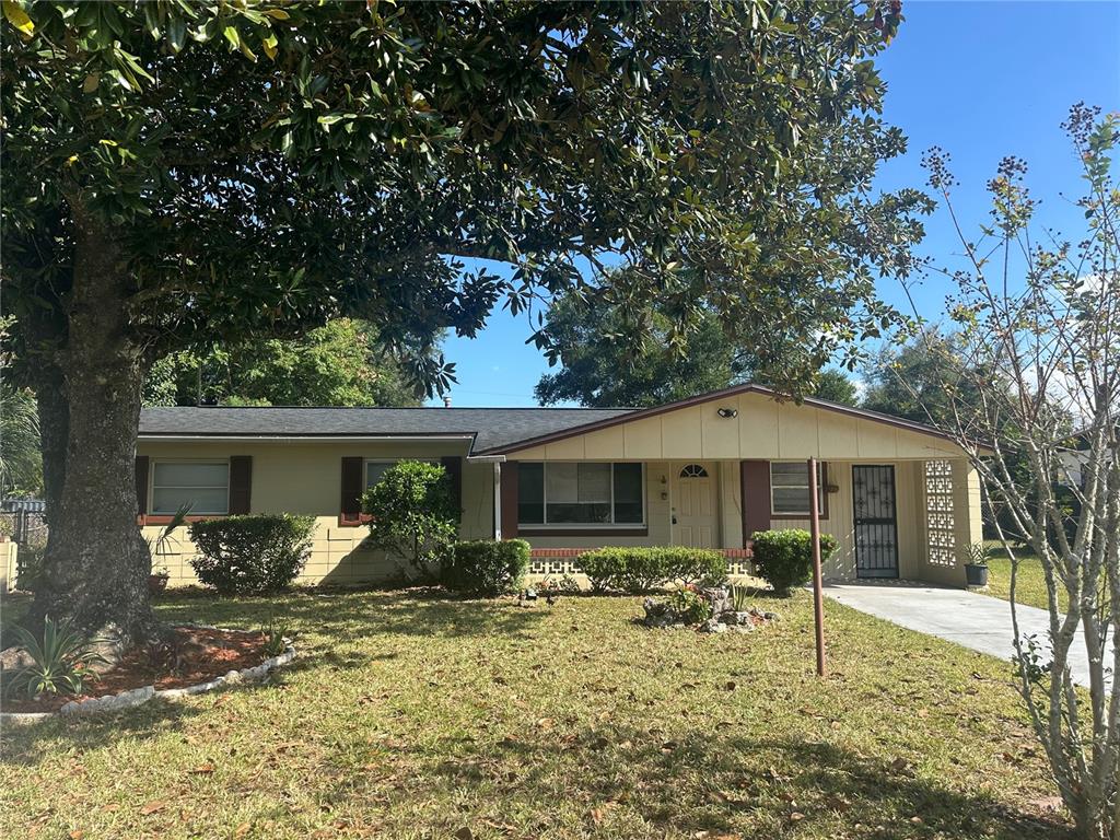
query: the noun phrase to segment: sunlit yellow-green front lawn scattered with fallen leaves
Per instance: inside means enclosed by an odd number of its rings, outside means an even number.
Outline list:
[[[9,728],[21,838],[1064,837],[1009,666],[827,604],[752,635],[646,631],[638,598],[532,609],[407,592],[170,595],[256,627],[271,684]],[[469,831],[469,833],[468,833]],[[71,833],[74,832],[74,833]]]

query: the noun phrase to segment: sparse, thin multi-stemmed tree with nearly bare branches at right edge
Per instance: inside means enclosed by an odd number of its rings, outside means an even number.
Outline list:
[[[1085,838],[1120,837],[1120,192],[1110,171],[1118,119],[1074,106],[1064,124],[1084,167],[1088,233],[1032,233],[1026,167],[1005,159],[988,188],[992,221],[961,233],[968,267],[952,274],[953,342],[942,423],[969,452],[1011,558],[1018,689],[1062,799]],[[961,232],[948,156],[926,157],[930,186]],[[948,351],[946,348],[952,348]],[[1025,466],[1024,466],[1025,465]],[[1074,467],[1071,469],[1071,467]],[[1080,473],[1080,475],[1079,475]],[[1001,523],[1010,522],[1016,539]],[[1026,536],[1026,545],[1018,539]],[[1038,556],[1048,644],[1020,632],[1018,559]],[[1063,613],[1061,605],[1068,603]],[[1089,653],[1089,692],[1071,662]]]

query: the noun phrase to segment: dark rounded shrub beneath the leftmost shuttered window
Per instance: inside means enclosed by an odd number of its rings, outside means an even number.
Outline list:
[[[194,522],[195,575],[221,595],[274,592],[296,579],[311,553],[314,516],[252,514]]]

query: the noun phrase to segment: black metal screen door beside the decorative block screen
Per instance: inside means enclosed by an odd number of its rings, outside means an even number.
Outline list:
[[[856,516],[856,575],[860,578],[897,578],[895,468],[853,466],[851,484]]]

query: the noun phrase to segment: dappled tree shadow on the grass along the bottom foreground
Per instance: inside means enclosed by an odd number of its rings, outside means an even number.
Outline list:
[[[650,731],[605,727],[576,738],[530,732],[468,744],[465,753],[461,741],[457,746],[448,754],[396,747],[404,764],[423,767],[418,774],[422,783],[405,782],[399,793],[422,803],[473,791],[475,813],[464,803],[456,818],[468,827],[472,820],[493,819],[486,811],[501,802],[511,812],[551,803],[532,825],[511,829],[540,836],[570,832],[588,814],[595,823],[589,830],[610,836],[610,827],[598,821],[616,813],[628,827],[648,824],[651,836],[847,837],[852,823],[860,823],[866,830],[878,825],[875,837],[1073,838],[1056,819],[952,790],[905,763],[832,744],[752,739],[728,729],[692,729],[666,743]],[[563,799],[557,799],[557,791],[564,792]],[[365,780],[357,773],[340,781],[327,800],[364,795]],[[454,831],[455,825],[446,828]]]

